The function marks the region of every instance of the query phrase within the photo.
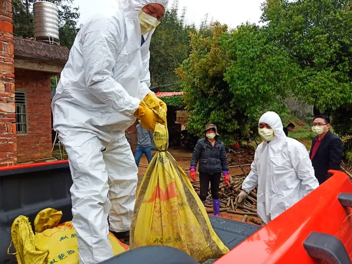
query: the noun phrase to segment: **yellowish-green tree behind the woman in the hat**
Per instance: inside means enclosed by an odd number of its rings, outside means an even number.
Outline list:
[[[235,95],[224,81],[229,61],[220,45],[220,37],[227,32],[226,25],[214,23],[212,36],[203,37],[191,33],[191,54],[176,69],[183,81],[186,109],[189,111],[187,130],[200,136],[207,123],[218,126],[221,140],[234,144],[236,140],[249,137],[250,120],[239,110]]]

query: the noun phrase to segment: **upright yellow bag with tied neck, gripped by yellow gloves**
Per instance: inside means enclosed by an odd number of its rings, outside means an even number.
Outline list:
[[[165,110],[153,109],[166,124]],[[166,125],[156,124],[154,142],[159,151],[137,193],[130,248],[166,245],[184,251],[198,262],[220,258],[229,250],[214,232],[188,177],[167,152]]]

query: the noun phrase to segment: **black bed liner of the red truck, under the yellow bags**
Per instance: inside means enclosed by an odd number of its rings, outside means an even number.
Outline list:
[[[68,163],[0,170],[0,264],[17,263],[13,255],[7,254],[11,225],[16,217],[27,216],[33,223],[38,212],[51,207],[63,211],[62,222],[72,220],[71,185]],[[260,226],[234,220],[213,216],[209,219],[229,249],[260,229]]]

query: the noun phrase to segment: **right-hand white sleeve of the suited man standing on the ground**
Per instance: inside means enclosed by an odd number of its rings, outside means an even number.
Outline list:
[[[304,145],[295,146],[288,150],[291,157],[292,166],[301,180],[303,195],[308,195],[311,191],[319,187],[319,182],[314,175],[314,169],[309,159],[309,154]]]

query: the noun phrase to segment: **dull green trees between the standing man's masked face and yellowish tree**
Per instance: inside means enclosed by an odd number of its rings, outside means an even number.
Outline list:
[[[196,31],[194,25],[185,22],[186,10],[183,9],[180,17],[178,11],[178,1],[175,1],[156,28],[150,46],[151,87],[161,87],[161,91],[181,89],[174,71],[188,57],[189,33]]]

